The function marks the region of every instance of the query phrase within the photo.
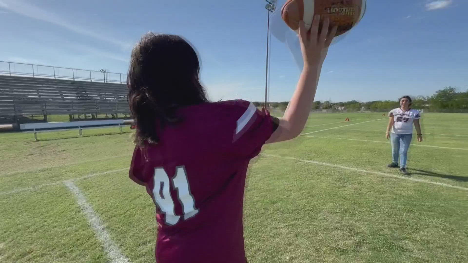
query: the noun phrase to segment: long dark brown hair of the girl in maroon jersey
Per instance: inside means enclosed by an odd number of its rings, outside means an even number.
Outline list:
[[[158,143],[158,129],[181,121],[178,109],[208,102],[199,74],[197,52],[182,37],[153,32],[141,37],[127,75],[136,145]]]

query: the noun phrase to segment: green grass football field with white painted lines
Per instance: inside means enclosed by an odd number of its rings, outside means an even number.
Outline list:
[[[387,168],[387,121],[312,114],[307,135],[264,146],[246,186],[249,263],[468,262],[468,115],[423,114],[410,176]],[[154,262],[154,204],[128,179],[124,131],[0,133],[0,262]]]

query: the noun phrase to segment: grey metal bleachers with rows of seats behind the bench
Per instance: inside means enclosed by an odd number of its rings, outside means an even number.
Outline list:
[[[47,115],[129,113],[125,84],[0,75],[0,123],[31,115],[47,121]]]

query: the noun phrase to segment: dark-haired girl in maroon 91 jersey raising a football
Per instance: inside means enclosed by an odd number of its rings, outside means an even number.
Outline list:
[[[306,124],[336,26],[300,23],[304,68],[284,117],[251,102],[209,102],[196,51],[145,34],[132,50],[128,99],[136,124],[130,178],[156,207],[158,263],[245,263],[242,205],[249,161]],[[322,28],[319,34],[319,28]]]

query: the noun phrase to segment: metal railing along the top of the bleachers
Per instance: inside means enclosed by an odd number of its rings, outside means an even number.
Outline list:
[[[127,74],[124,73],[113,73],[107,72],[106,70],[95,71],[58,66],[44,66],[8,61],[0,61],[0,75],[120,84],[124,84],[127,81]]]

